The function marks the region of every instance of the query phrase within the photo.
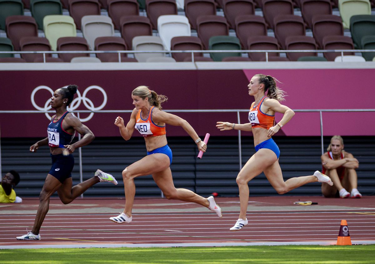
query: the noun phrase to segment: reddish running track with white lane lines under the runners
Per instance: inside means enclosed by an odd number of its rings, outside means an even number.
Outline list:
[[[223,209],[221,219],[209,211],[197,212],[195,204],[156,199],[157,207],[153,206],[155,200],[139,200],[138,208],[145,208],[148,212],[133,213],[131,224],[116,224],[108,220],[110,216],[117,215],[118,210],[114,210],[116,213],[64,213],[64,206],[60,206],[61,213],[46,216],[40,231],[42,240],[39,241],[15,240],[16,236],[26,233],[26,228],[31,230],[35,218],[34,213],[20,215],[20,211],[15,210],[14,213],[0,214],[0,248],[332,245],[336,244],[342,219],[348,222],[353,244],[375,243],[375,208],[351,206],[342,210],[341,206],[290,207],[287,201],[288,206],[279,206],[279,210],[274,210],[273,205],[279,204],[280,198],[274,203],[268,203],[267,198],[263,197],[266,202],[262,202],[262,197],[256,199],[254,203],[260,206],[251,209],[261,210],[248,212],[249,225],[237,232],[230,232],[229,228],[236,222],[238,212],[226,212],[225,208],[233,209],[238,198],[217,199]],[[314,199],[319,200],[320,197]],[[371,201],[374,199],[371,198]],[[335,200],[342,202],[332,199]],[[160,206],[161,201],[165,201],[164,206]],[[361,201],[363,203],[365,199],[355,202],[362,204]],[[37,204],[37,200],[32,203]],[[92,205],[87,207],[94,209]],[[160,207],[164,210],[160,210]],[[324,207],[329,209],[321,210]],[[176,208],[182,208],[185,212],[172,212]]]

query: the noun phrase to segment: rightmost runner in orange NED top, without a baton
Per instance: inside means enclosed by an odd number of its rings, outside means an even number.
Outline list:
[[[318,171],[314,175],[293,177],[284,182],[279,165],[279,147],[271,137],[292,119],[294,112],[280,103],[280,101],[284,100],[284,92],[276,87],[276,81],[272,76],[263,74],[257,74],[251,78],[248,85],[249,95],[254,96],[255,101],[250,107],[249,123],[217,122],[216,125],[220,131],[231,129],[252,131],[254,136],[256,152],[243,166],[236,179],[240,192],[240,216],[236,224],[230,228],[231,231],[238,231],[248,224],[246,219],[249,201],[248,182],[261,172],[264,172],[273,188],[279,194],[285,194],[309,182],[319,181],[333,185],[328,176]],[[266,92],[267,95],[265,96]],[[284,114],[277,124],[275,124],[275,112]]]

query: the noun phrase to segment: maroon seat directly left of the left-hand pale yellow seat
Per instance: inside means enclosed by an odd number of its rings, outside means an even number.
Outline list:
[[[31,16],[8,16],[5,19],[5,31],[7,37],[12,40],[15,51],[20,50],[21,37],[37,37],[38,26]]]

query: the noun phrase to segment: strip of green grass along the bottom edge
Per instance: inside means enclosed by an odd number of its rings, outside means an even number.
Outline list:
[[[1,249],[0,263],[374,264],[374,252],[375,245]]]

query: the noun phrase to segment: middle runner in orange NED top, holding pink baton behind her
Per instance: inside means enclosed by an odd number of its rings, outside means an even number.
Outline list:
[[[118,116],[115,125],[120,128],[120,134],[125,140],[132,137],[136,129],[144,136],[147,156],[126,167],[122,172],[125,189],[125,209],[120,215],[111,217],[110,220],[118,224],[132,221],[132,207],[135,195],[134,178],[151,174],[157,186],[162,190],[167,199],[193,202],[201,204],[222,216],[220,207],[212,196],[203,198],[187,189],[176,189],[173,184],[171,163],[172,151],[167,145],[165,124],[181,126],[193,139],[200,151],[205,152],[206,144],[198,137],[192,126],[184,119],[163,112],[161,103],[167,100],[163,95],[150,91],[146,86],[139,86],[132,92],[135,108],[127,125],[124,119]]]

